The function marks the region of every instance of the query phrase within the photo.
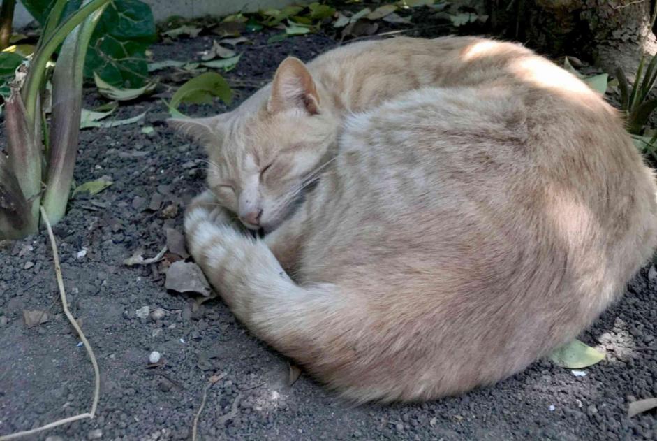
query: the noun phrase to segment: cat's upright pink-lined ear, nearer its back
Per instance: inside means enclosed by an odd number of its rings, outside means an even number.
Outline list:
[[[272,95],[267,110],[272,113],[290,108],[302,108],[310,115],[319,113],[319,94],[310,72],[295,57],[283,60],[272,81]]]

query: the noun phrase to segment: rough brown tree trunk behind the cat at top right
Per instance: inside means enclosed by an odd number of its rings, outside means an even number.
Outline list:
[[[650,0],[488,0],[494,29],[552,55],[575,55],[632,76],[657,52]],[[506,4],[503,4],[506,3]]]

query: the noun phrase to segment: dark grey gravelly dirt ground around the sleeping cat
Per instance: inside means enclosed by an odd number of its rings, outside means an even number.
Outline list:
[[[286,55],[310,59],[336,44],[312,35],[267,45],[266,37],[242,45],[242,59],[226,74],[238,86],[233,106],[270,78]],[[189,60],[211,44],[202,36],[158,44],[153,52],[156,60]],[[89,89],[91,101],[94,93]],[[224,109],[215,103],[186,111]],[[191,297],[165,289],[157,265],[122,264],[140,247],[154,256],[167,228],[182,231],[184,203],[204,176],[202,150],[164,125],[168,114],[161,101],[121,106],[118,116],[145,110],[144,124],[155,129],[150,135],[136,124],[82,132],[75,180],[110,176],[114,185],[73,199],[55,228],[69,303],[101,368],[97,416],[31,439],[189,439],[209,377],[224,373],[207,391],[198,424],[203,440],[657,440],[654,411],[627,417],[630,401],[657,396],[657,273],[649,268],[580,337],[607,349],[607,359],[584,369],[585,376],[538,361],[463,396],[360,407],[307,375],[288,386],[288,361],[237,323],[221,301],[195,310]],[[140,319],[135,312],[144,306],[167,313]],[[47,310],[50,319],[27,328],[23,310]],[[0,435],[89,409],[93,374],[78,342],[61,312],[46,237],[5,245]],[[163,366],[147,368],[152,351],[161,352]]]

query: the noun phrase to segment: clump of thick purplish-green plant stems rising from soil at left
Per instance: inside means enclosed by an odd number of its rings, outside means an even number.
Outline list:
[[[0,238],[35,233],[40,209],[53,222],[66,212],[80,130],[84,59],[109,1],[91,0],[59,22],[66,0],[57,0],[29,64],[20,66],[21,77],[11,82],[5,115],[8,159],[2,156],[0,161]],[[60,45],[52,71],[52,117],[45,124],[40,96],[50,76],[50,57]],[[49,141],[44,149],[45,138]]]

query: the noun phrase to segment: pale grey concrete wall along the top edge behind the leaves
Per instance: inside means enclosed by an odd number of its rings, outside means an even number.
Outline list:
[[[166,20],[172,15],[186,18],[204,15],[229,15],[238,12],[253,12],[264,8],[282,8],[292,3],[309,3],[308,0],[142,0],[153,10],[156,22]],[[14,27],[24,27],[32,21],[31,15],[22,4],[17,3],[14,13]]]

